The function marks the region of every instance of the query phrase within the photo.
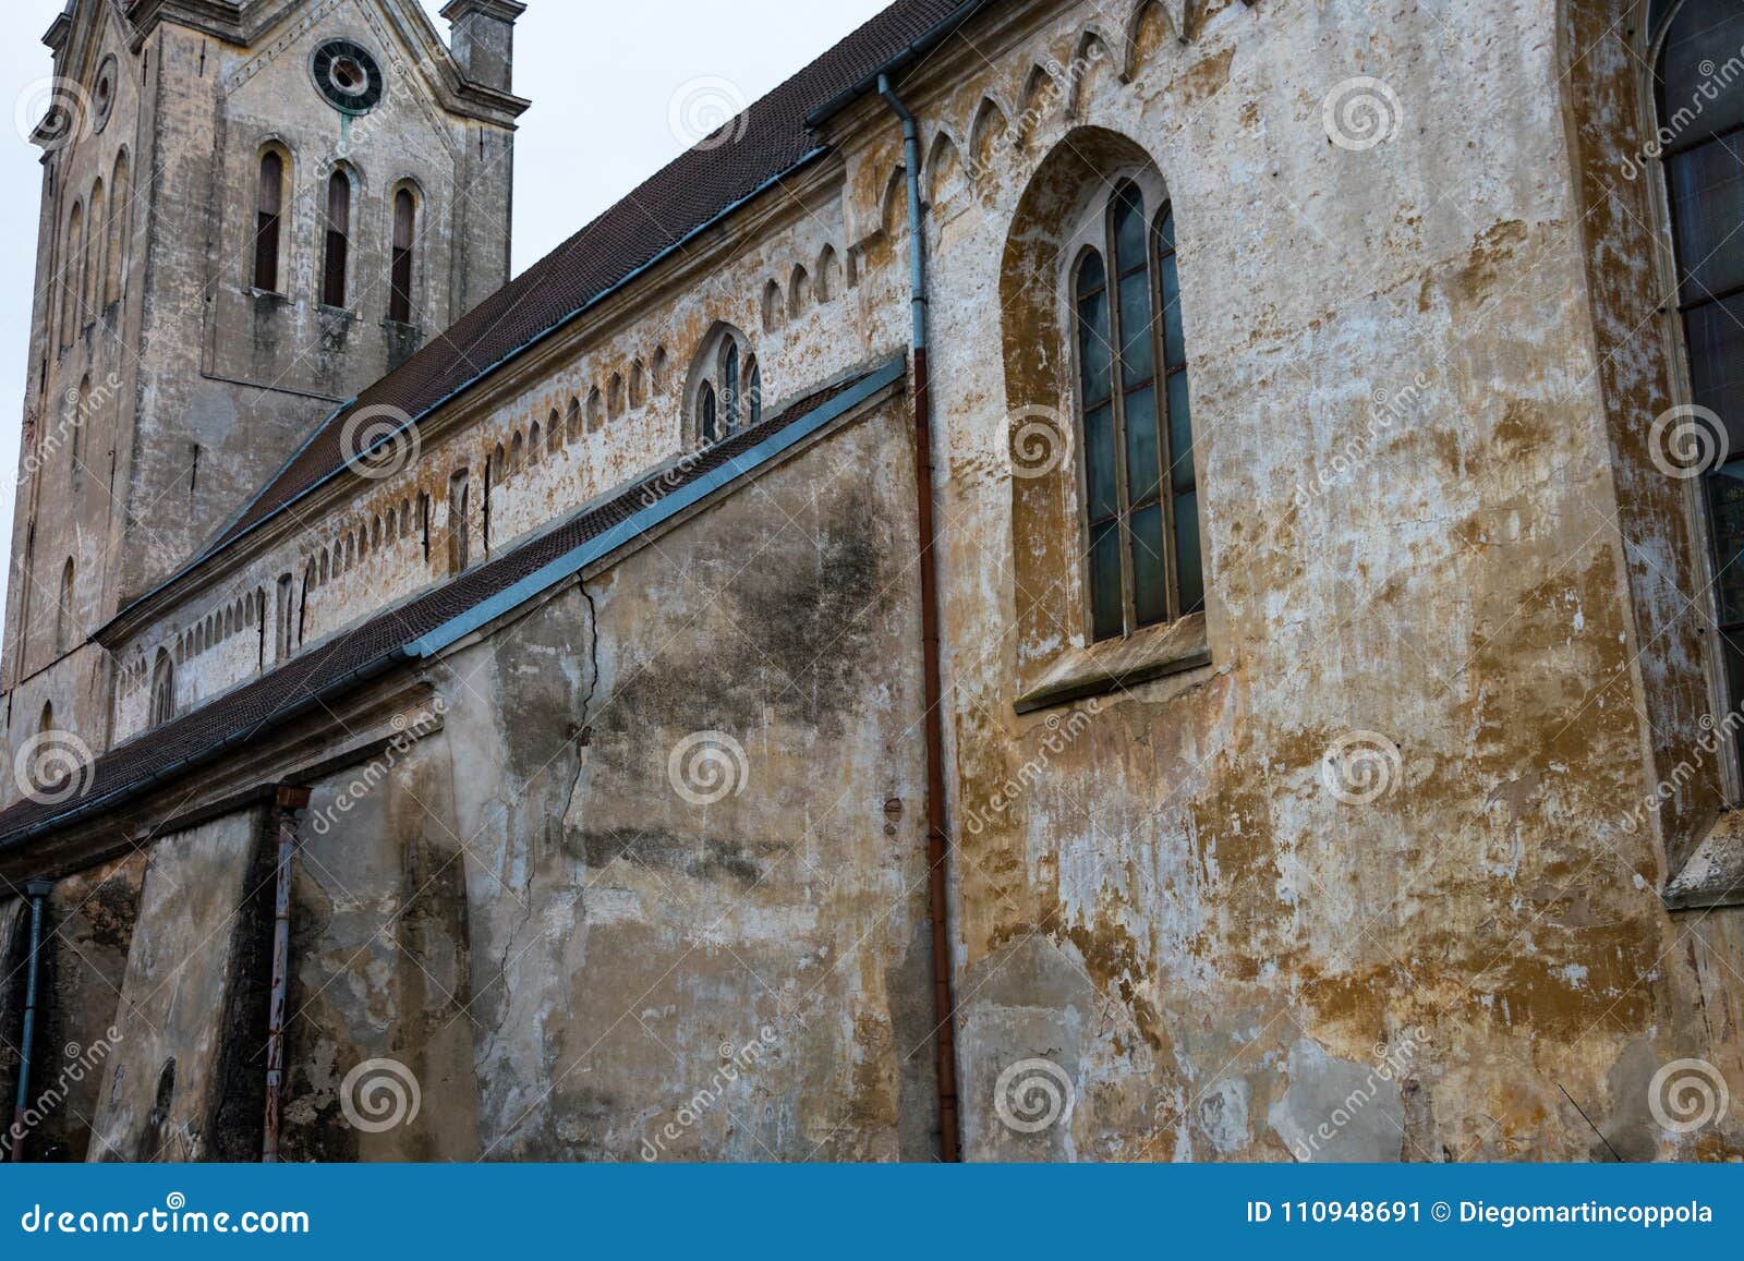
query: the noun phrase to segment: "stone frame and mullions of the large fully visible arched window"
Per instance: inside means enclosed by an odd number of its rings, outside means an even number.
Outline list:
[[[1120,197],[1127,188],[1137,188],[1141,195],[1141,222],[1144,227],[1144,269],[1146,269],[1146,291],[1151,303],[1151,375],[1149,385],[1155,398],[1156,408],[1156,455],[1158,455],[1158,490],[1156,501],[1162,506],[1162,530],[1163,530],[1163,603],[1165,616],[1160,621],[1141,623],[1137,607],[1137,590],[1134,576],[1134,532],[1132,532],[1132,488],[1130,488],[1130,460],[1127,448],[1127,406],[1128,398],[1144,391],[1146,385],[1128,385],[1123,377],[1123,347],[1125,337],[1121,330],[1120,314],[1120,283],[1123,276],[1120,274],[1120,251],[1116,249],[1114,232],[1116,232],[1116,211],[1120,208]],[[1205,607],[1205,596],[1202,593],[1196,607],[1184,607],[1181,593],[1181,556],[1177,541],[1177,515],[1175,501],[1177,494],[1172,485],[1172,426],[1168,410],[1168,378],[1174,375],[1168,368],[1167,345],[1165,345],[1165,310],[1163,310],[1163,291],[1162,291],[1162,225],[1174,211],[1174,201],[1168,195],[1168,188],[1149,167],[1128,167],[1116,171],[1107,180],[1099,180],[1093,188],[1093,195],[1080,208],[1076,218],[1076,230],[1066,239],[1060,251],[1064,260],[1064,269],[1059,276],[1059,293],[1060,307],[1064,310],[1062,330],[1067,342],[1067,398],[1071,405],[1071,426],[1073,426],[1073,448],[1071,460],[1074,464],[1074,492],[1078,495],[1076,516],[1078,516],[1078,617],[1080,631],[1087,645],[1097,644],[1114,644],[1128,642],[1139,635],[1158,631],[1181,623],[1184,617],[1198,614]],[[1179,218],[1177,218],[1179,230]],[[1090,256],[1095,255],[1102,265],[1102,295],[1100,300],[1107,309],[1107,337],[1109,337],[1109,401],[1107,406],[1113,412],[1113,450],[1114,450],[1114,480],[1116,480],[1116,528],[1120,534],[1120,603],[1121,603],[1121,630],[1120,633],[1099,635],[1097,633],[1097,610],[1095,610],[1095,579],[1092,572],[1092,541],[1097,525],[1102,525],[1102,518],[1092,521],[1090,516],[1090,460],[1088,460],[1088,434],[1087,422],[1090,410],[1087,408],[1085,398],[1085,363],[1083,363],[1083,328],[1080,314],[1080,279],[1083,277],[1083,269]],[[1135,274],[1135,269],[1127,270],[1127,276]],[[1177,263],[1179,277],[1179,263]],[[1186,356],[1182,356],[1186,359]],[[1188,371],[1182,365],[1181,371]],[[1191,389],[1191,385],[1189,385]],[[1191,419],[1189,419],[1191,424]],[[1193,459],[1198,459],[1198,445],[1195,443]],[[1193,492],[1198,495],[1200,478],[1195,466],[1193,474]],[[1186,492],[1182,492],[1186,494]],[[1139,506],[1139,511],[1149,508],[1149,499]],[[1203,528],[1203,515],[1202,515]],[[1200,572],[1203,579],[1203,532],[1200,534]]]

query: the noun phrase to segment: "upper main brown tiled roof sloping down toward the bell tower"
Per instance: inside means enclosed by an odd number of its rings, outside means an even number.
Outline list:
[[[331,417],[211,549],[338,473],[345,464],[340,434],[351,410],[392,406],[420,417],[476,382],[699,227],[792,171],[816,150],[806,124],[813,112],[862,85],[879,66],[961,17],[968,7],[963,0],[896,0],[755,101],[738,120],[675,159]]]

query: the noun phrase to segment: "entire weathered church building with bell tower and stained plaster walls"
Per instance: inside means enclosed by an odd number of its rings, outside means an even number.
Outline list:
[[[896,0],[520,276],[441,17],[47,31],[3,1158],[1744,1158],[1744,10]]]

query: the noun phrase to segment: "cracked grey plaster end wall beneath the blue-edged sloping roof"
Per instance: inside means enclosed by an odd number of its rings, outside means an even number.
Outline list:
[[[902,453],[886,408],[452,659],[488,1158],[933,1151]]]

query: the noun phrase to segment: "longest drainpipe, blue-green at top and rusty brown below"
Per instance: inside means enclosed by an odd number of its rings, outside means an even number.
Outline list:
[[[914,310],[914,476],[921,569],[921,671],[926,699],[926,862],[933,921],[933,1022],[938,1076],[938,1146],[947,1163],[957,1151],[956,998],[950,977],[950,888],[945,862],[945,703],[938,642],[938,528],[933,520],[933,378],[926,358],[926,235],[921,218],[921,131],[914,115],[879,75],[877,91],[902,120],[902,152],[909,174],[909,291]]]

